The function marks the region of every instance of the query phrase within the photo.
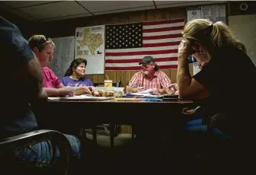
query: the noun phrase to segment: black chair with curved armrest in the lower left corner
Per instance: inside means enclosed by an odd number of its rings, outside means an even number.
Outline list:
[[[47,140],[50,140],[53,145],[51,164],[42,166],[33,163],[26,164],[14,155],[17,148],[24,148]],[[56,146],[58,146],[60,153],[58,160],[55,158]],[[0,140],[0,156],[0,174],[68,174],[70,165],[75,162],[72,158],[71,145],[66,136],[61,132],[46,129]]]

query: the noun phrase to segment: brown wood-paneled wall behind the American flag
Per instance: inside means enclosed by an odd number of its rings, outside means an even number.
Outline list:
[[[149,11],[133,11],[120,14],[105,14],[89,18],[76,18],[65,21],[54,21],[43,24],[44,30],[41,32],[48,37],[68,37],[74,36],[75,27],[86,27],[101,24],[126,24],[142,21],[162,21],[175,18],[186,18],[187,9],[181,8],[165,8]],[[42,27],[43,28],[43,27]],[[190,71],[192,72],[192,65]],[[106,71],[105,75],[114,82],[122,81],[123,87],[129,83],[130,79],[137,71]],[[172,82],[176,82],[177,69],[163,70]],[[103,83],[105,75],[88,75],[94,83]]]

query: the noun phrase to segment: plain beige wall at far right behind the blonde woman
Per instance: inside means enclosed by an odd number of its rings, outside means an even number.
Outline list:
[[[229,16],[229,27],[245,44],[248,56],[256,65],[256,14]]]

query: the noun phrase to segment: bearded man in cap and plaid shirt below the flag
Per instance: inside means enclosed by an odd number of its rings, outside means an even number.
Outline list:
[[[152,56],[145,56],[139,65],[142,72],[133,75],[126,92],[139,92],[150,90],[151,94],[177,94],[177,84],[171,84],[170,78],[164,72],[158,70],[158,65]]]

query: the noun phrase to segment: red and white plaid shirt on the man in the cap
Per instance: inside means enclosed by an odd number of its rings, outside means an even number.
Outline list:
[[[130,80],[129,87],[145,87],[146,89],[157,88],[157,89],[166,89],[169,91],[171,85],[171,80],[168,76],[162,72],[157,71],[151,79],[146,78],[143,72],[137,72],[133,75],[133,78]]]

